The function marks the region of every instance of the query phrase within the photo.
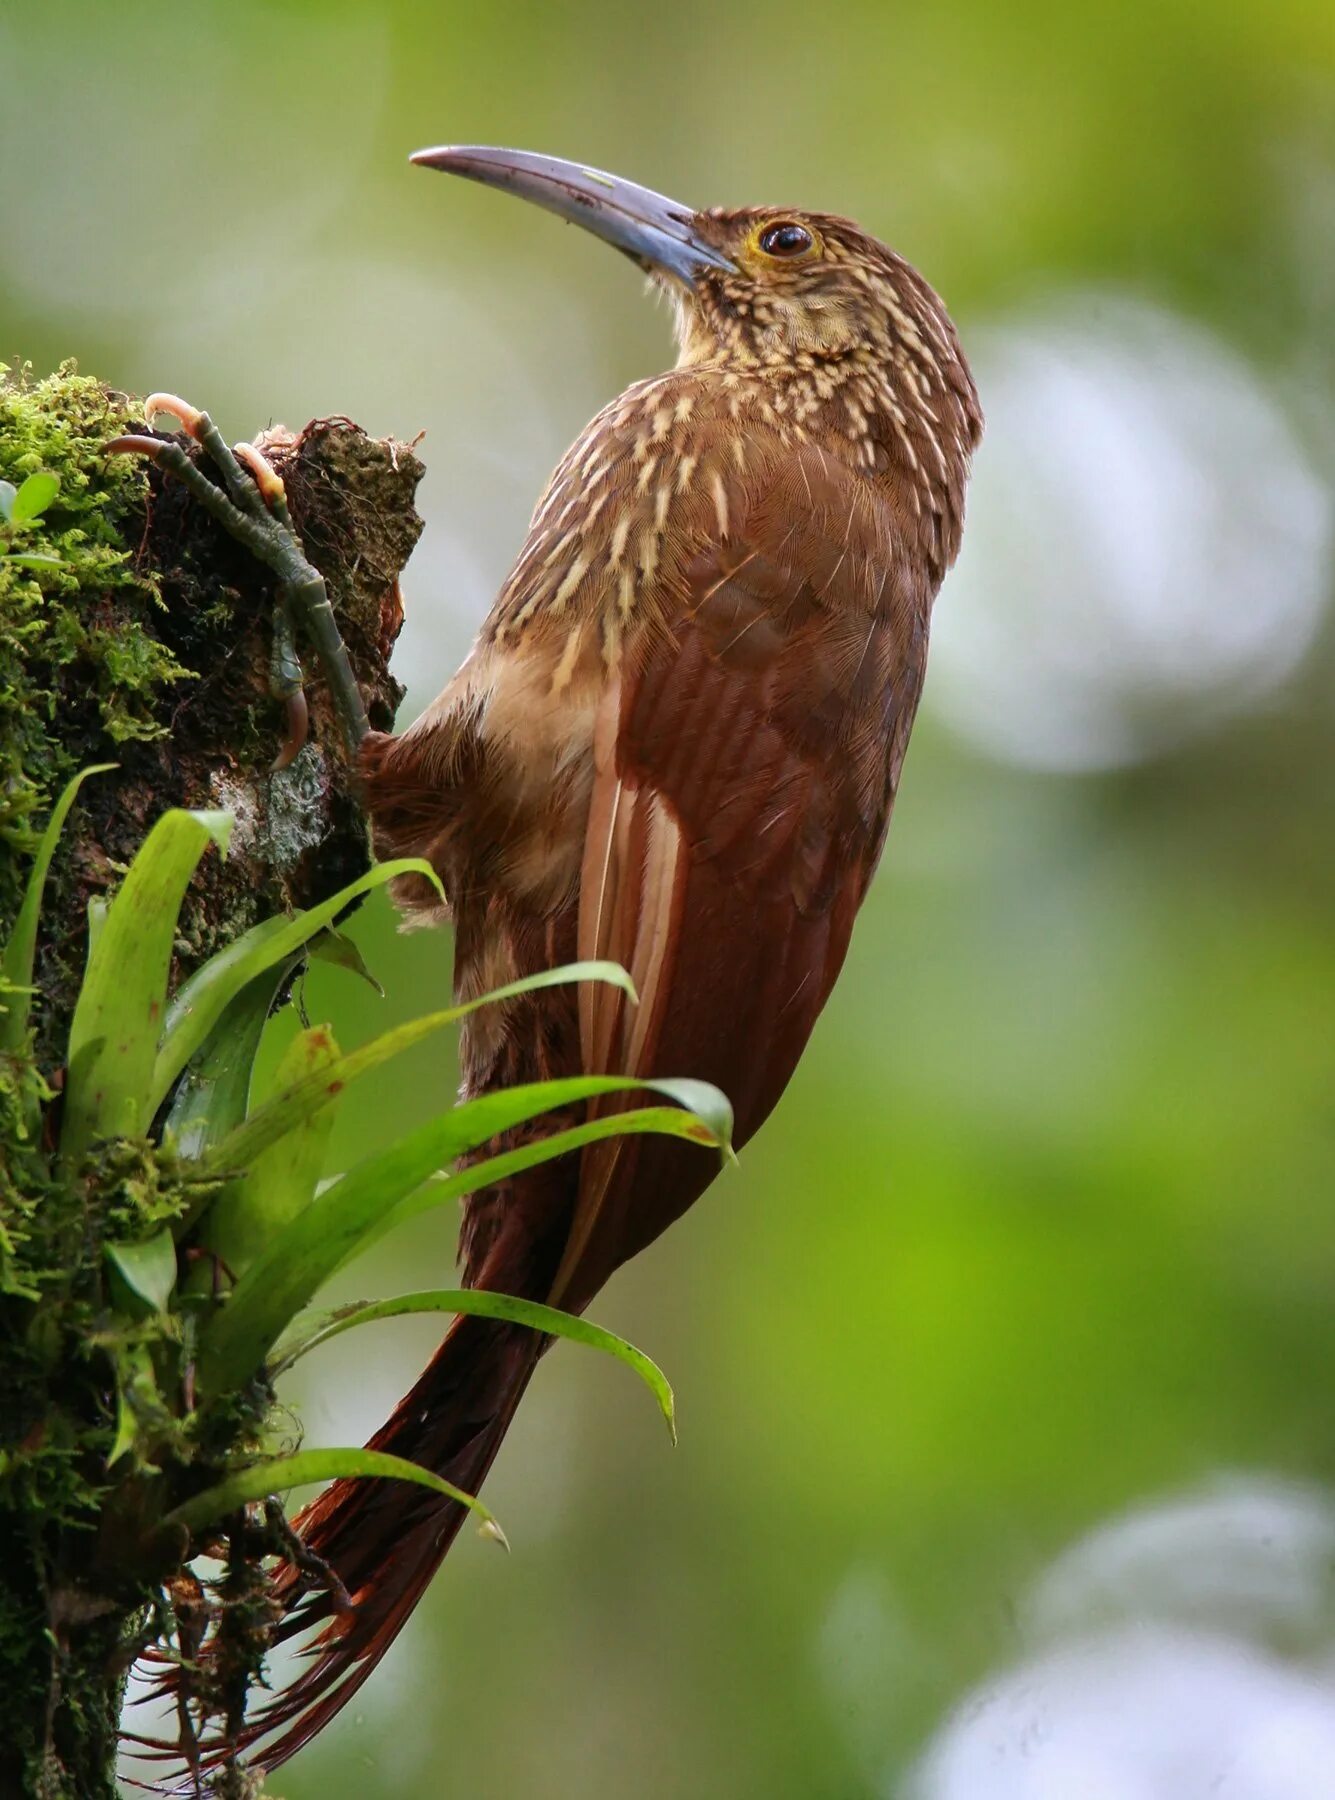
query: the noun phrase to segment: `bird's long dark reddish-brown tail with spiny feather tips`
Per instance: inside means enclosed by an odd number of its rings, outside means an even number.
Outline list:
[[[423,1463],[475,1494],[547,1345],[518,1325],[461,1318],[369,1449]],[[306,1548],[344,1582],[353,1609],[327,1588],[297,1595],[308,1575],[279,1582],[288,1613],[279,1642],[324,1624],[302,1674],[246,1723],[252,1760],[275,1769],[362,1687],[398,1636],[468,1510],[410,1481],[336,1481],[297,1519]],[[281,1733],[273,1739],[273,1733]]]

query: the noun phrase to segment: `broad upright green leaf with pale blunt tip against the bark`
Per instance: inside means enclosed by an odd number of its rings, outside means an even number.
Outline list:
[[[166,812],[112,900],[70,1024],[61,1129],[67,1166],[77,1165],[94,1139],[137,1138],[153,1120],[176,914],[205,846],[225,851],[230,830],[227,812]],[[198,1042],[203,1037],[207,1031]]]

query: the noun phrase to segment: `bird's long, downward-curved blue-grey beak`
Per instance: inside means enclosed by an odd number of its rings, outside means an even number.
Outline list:
[[[615,245],[650,274],[666,270],[687,286],[694,286],[707,268],[736,268],[730,257],[700,236],[689,207],[579,162],[486,144],[417,149],[408,162],[533,200]]]

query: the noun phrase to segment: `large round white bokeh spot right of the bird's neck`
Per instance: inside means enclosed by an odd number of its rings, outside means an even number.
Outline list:
[[[988,754],[1092,770],[1272,693],[1328,598],[1331,493],[1259,376],[1099,292],[972,351],[988,432],[928,707]]]

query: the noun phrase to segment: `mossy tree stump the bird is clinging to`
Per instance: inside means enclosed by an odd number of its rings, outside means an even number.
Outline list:
[[[59,1109],[90,902],[115,889],[166,808],[234,814],[227,860],[203,859],[182,913],[185,976],[250,925],[336,893],[369,864],[356,770],[315,659],[304,657],[309,742],[273,772],[284,720],[268,686],[272,578],[180,486],[103,454],[142,430],[131,400],[72,367],[0,382],[0,481],[59,479],[23,531],[27,556],[5,556],[20,545],[0,533],[0,941],[61,785],[90,763],[119,765],[79,794],[47,884],[34,1040],[0,1057],[0,1795],[41,1800],[115,1793],[124,1672],[153,1593],[144,1570],[117,1568],[99,1521],[113,1395],[88,1348],[103,1282],[97,1219],[117,1208],[153,1217],[153,1170],[108,1175],[115,1192],[90,1186],[86,1213],[58,1219],[54,1201],[43,1211],[23,1130],[34,1084],[47,1129]],[[326,576],[371,720],[389,729],[401,689],[387,664],[398,576],[421,531],[421,464],[342,418],[259,443]],[[61,1269],[70,1305],[38,1328],[34,1283],[58,1244],[88,1267]],[[81,1361],[63,1366],[79,1334]]]

